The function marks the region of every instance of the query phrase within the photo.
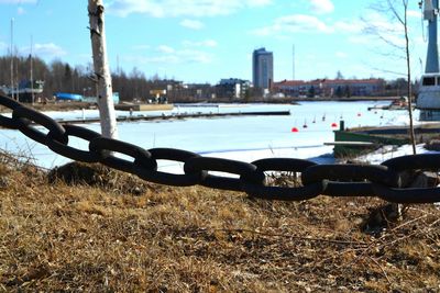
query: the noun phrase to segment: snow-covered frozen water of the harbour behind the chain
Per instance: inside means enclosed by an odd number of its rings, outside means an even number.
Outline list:
[[[165,112],[135,112],[142,115],[178,113],[233,113],[258,111],[290,111],[289,116],[232,116],[213,119],[187,119],[155,122],[119,123],[119,139],[142,148],[182,148],[204,156],[213,156],[252,161],[266,157],[294,157],[332,161],[332,147],[323,143],[333,142],[333,129],[341,120],[345,127],[407,125],[406,111],[367,111],[388,101],[356,102],[300,102],[294,104],[229,104],[222,106],[175,106]],[[96,117],[98,111],[46,112],[54,119]],[[118,115],[127,115],[119,112]],[[416,111],[415,116],[418,116]],[[315,121],[315,123],[314,123]],[[338,126],[332,127],[336,123]],[[307,128],[304,126],[307,125]],[[100,132],[97,123],[82,125]],[[296,127],[298,132],[292,129]],[[82,139],[72,139],[70,146],[86,148]],[[0,131],[0,146],[11,153],[32,157],[38,166],[53,168],[68,160],[47,147],[28,139],[23,134]],[[164,161],[161,168],[175,170]],[[179,168],[178,168],[179,169]]]

